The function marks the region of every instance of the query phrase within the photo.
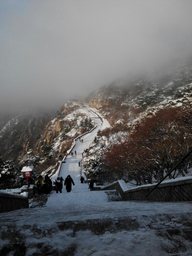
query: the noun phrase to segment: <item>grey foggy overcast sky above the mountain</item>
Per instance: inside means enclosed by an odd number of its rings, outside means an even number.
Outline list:
[[[192,1],[0,1],[0,108],[60,108],[192,53]]]

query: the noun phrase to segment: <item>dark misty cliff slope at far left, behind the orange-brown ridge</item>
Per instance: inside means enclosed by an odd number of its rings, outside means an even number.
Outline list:
[[[33,115],[28,111],[9,120],[0,131],[0,154],[5,159],[16,159],[33,148],[51,115]]]

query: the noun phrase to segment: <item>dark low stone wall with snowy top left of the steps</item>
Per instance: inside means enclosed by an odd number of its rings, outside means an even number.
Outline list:
[[[27,197],[0,192],[0,213],[29,208]]]

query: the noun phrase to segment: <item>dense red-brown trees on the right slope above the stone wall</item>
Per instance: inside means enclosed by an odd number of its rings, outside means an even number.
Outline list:
[[[137,185],[159,181],[192,145],[191,109],[166,108],[142,119],[135,132],[105,153],[105,179],[134,180]],[[169,178],[184,176],[191,164],[189,157]]]

